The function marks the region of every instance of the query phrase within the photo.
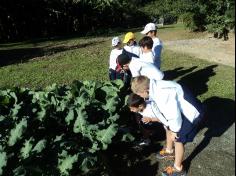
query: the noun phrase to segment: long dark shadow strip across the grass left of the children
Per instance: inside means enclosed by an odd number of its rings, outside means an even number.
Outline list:
[[[89,45],[103,43],[105,41],[93,41],[75,45],[58,45],[52,47],[34,47],[34,48],[17,48],[0,50],[0,67],[11,64],[27,62],[30,59],[37,57],[50,56],[63,51],[85,48]]]

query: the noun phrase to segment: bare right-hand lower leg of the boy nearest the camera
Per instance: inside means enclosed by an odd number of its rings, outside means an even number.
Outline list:
[[[175,142],[175,167],[178,170],[182,170],[182,162],[184,159],[184,144],[181,142]]]

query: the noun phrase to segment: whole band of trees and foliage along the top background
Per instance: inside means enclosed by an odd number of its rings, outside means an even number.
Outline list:
[[[222,37],[235,24],[234,0],[1,0],[0,40],[107,34],[160,17]]]

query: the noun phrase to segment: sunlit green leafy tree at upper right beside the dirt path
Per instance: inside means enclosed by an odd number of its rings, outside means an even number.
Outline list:
[[[183,8],[182,15],[182,19],[189,29],[193,31],[207,30],[217,38],[228,39],[228,32],[232,28],[234,29],[235,25],[234,0],[189,0],[189,2],[191,7]],[[180,5],[178,9],[182,7]]]

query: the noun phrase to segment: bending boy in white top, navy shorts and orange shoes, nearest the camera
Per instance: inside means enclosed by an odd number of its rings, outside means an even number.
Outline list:
[[[152,102],[151,109],[156,119],[166,127],[166,148],[157,154],[157,158],[174,157],[175,161],[173,166],[163,171],[163,175],[185,175],[182,165],[184,144],[192,142],[197,133],[204,113],[202,104],[174,81],[157,81],[138,76],[133,79],[131,89]],[[153,118],[145,118],[143,121],[149,123]]]

